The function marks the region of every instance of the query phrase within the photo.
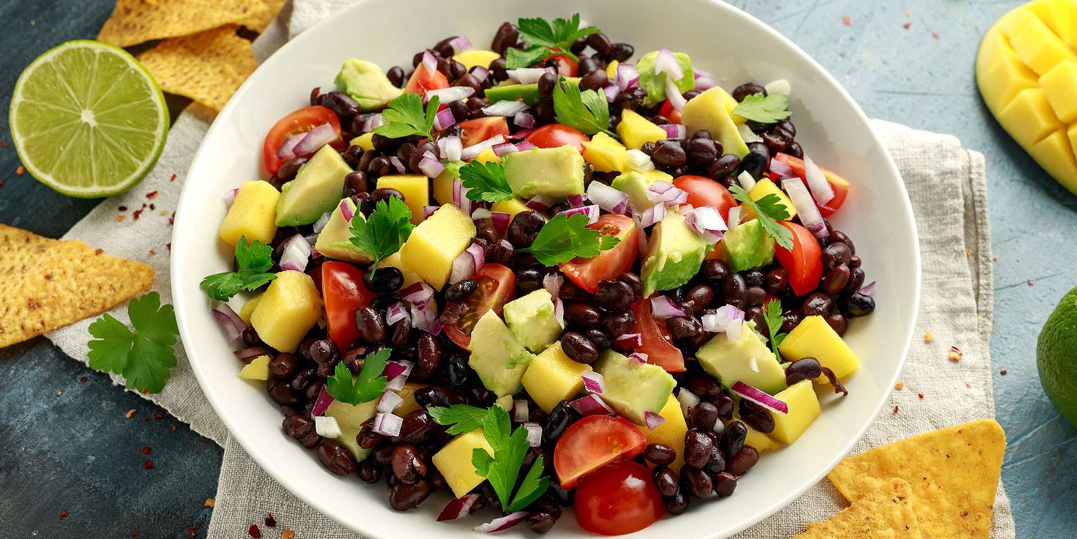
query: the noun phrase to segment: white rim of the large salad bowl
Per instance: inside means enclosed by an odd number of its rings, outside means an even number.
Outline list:
[[[299,44],[305,39],[312,39],[312,38],[310,38],[310,36],[317,36],[319,33],[319,31],[323,27],[328,26],[332,23],[333,19],[335,19],[337,17],[353,16],[352,15],[353,12],[358,12],[358,11],[362,10],[362,8],[366,3],[370,2],[370,1],[375,1],[375,0],[358,0],[355,2],[352,2],[351,4],[349,4],[349,5],[340,9],[339,11],[333,13],[332,15],[327,16],[326,18],[324,18],[324,19],[318,22],[317,24],[312,25],[311,27],[307,28],[306,30],[304,30],[299,34],[295,36],[294,38],[289,39],[288,41],[285,41],[283,43],[283,45],[281,45],[279,49],[277,49],[276,51],[274,51],[274,53],[271,55],[269,55],[265,60],[263,60],[262,64],[255,70],[255,72],[257,72],[257,71],[260,71],[262,69],[274,69],[275,68],[275,58],[277,58],[278,56],[281,56],[280,53],[282,53],[284,51],[288,51],[288,50],[290,50],[293,46],[300,46]],[[908,190],[906,189],[905,182],[901,179],[903,177],[901,177],[900,170],[898,170],[897,165],[895,164],[893,156],[890,154],[890,150],[883,143],[882,139],[879,137],[879,134],[876,133],[876,130],[873,128],[871,128],[871,126],[870,126],[870,120],[868,119],[867,114],[864,113],[864,111],[863,111],[863,109],[861,109],[859,105],[853,99],[853,97],[849,94],[849,92],[837,81],[837,79],[835,79],[835,77],[829,71],[826,70],[826,68],[824,68],[821,64],[819,64],[819,61],[816,61],[806,51],[803,51],[802,49],[800,49],[800,46],[797,45],[795,42],[793,42],[793,40],[786,38],[784,34],[782,34],[781,32],[779,32],[778,30],[775,30],[774,28],[772,28],[770,25],[768,25],[767,23],[763,22],[761,19],[755,17],[751,13],[747,13],[746,11],[741,10],[740,8],[737,8],[736,5],[732,5],[732,4],[729,4],[729,3],[725,3],[725,2],[723,2],[721,0],[705,0],[705,1],[709,2],[710,4],[712,4],[712,6],[714,9],[716,9],[716,10],[723,10],[726,15],[730,15],[732,17],[740,17],[740,19],[741,19],[740,22],[741,23],[744,23],[744,24],[747,24],[747,25],[752,25],[752,26],[755,27],[755,30],[761,31],[765,34],[767,34],[769,38],[774,39],[774,40],[781,42],[783,45],[785,45],[786,47],[788,47],[792,51],[794,51],[795,54],[797,55],[797,57],[792,58],[792,60],[802,61],[802,63],[807,64],[809,67],[811,67],[813,71],[815,71],[816,73],[821,74],[822,75],[822,80],[828,86],[829,91],[831,91],[837,97],[839,97],[842,101],[844,101],[844,103],[848,105],[854,111],[854,113],[855,113],[855,120],[857,122],[859,122],[859,123],[862,123],[863,125],[866,126],[867,130],[869,132],[869,137],[870,137],[871,146],[880,149],[881,152],[882,152],[882,157],[884,158],[884,162],[885,162],[884,163],[885,171],[889,172],[893,178],[897,178],[897,180],[900,183],[900,192],[901,192],[903,196],[900,197],[900,201],[898,202],[899,203],[898,204],[898,206],[899,206],[898,210],[901,211],[903,213],[905,213],[905,218],[907,219],[907,222],[911,223],[911,225],[905,232],[907,234],[911,235],[912,245],[914,247],[914,249],[912,251],[912,259],[913,259],[912,263],[913,263],[913,267],[915,270],[915,275],[914,275],[914,279],[913,279],[913,289],[912,289],[912,305],[911,305],[912,306],[912,314],[911,314],[910,319],[909,319],[910,323],[909,323],[908,330],[907,330],[905,338],[904,338],[904,344],[900,347],[900,356],[898,358],[898,362],[897,362],[897,365],[896,365],[897,368],[895,369],[894,375],[892,376],[892,379],[890,381],[890,383],[886,385],[886,387],[882,388],[882,391],[881,391],[882,395],[880,395],[879,402],[878,402],[878,404],[876,404],[876,407],[875,407],[875,410],[872,411],[872,413],[870,415],[870,417],[872,417],[872,418],[878,418],[879,413],[882,411],[883,405],[886,404],[890,395],[893,392],[894,385],[899,379],[901,371],[905,368],[906,360],[908,359],[909,349],[910,349],[910,347],[912,345],[912,337],[913,337],[913,334],[915,333],[917,319],[918,319],[918,316],[919,316],[920,302],[921,302],[921,292],[922,292],[922,267],[921,267],[921,265],[922,265],[922,258],[921,258],[921,252],[920,252],[920,237],[919,237],[919,232],[917,230],[915,217],[914,217],[914,213],[913,213],[913,210],[912,210],[912,202],[909,198]],[[230,113],[233,112],[234,109],[236,109],[236,108],[239,107],[238,102],[241,101],[241,97],[246,94],[244,91],[251,84],[253,84],[252,83],[252,81],[254,79],[253,75],[254,75],[254,73],[252,73],[250,77],[248,77],[248,79],[239,86],[239,88],[236,89],[236,93],[234,94],[234,98],[228,100],[228,102],[221,110],[221,112],[218,113],[218,115],[215,116],[215,119],[218,119],[218,118],[227,118],[228,115],[230,115]],[[236,99],[235,98],[236,96],[239,96],[240,99]],[[222,125],[222,123],[216,122],[215,119],[214,119],[214,122],[212,123],[212,125],[210,125],[209,129],[206,132],[206,135],[204,136],[201,142],[199,142],[198,150],[195,153],[195,156],[192,158],[191,165],[187,168],[188,170],[195,169],[195,164],[199,162],[199,160],[202,157],[204,153],[206,152],[206,148],[207,148],[206,147],[206,141],[210,140],[211,137],[213,136],[213,134]],[[177,218],[178,222],[177,222],[176,227],[173,229],[173,232],[172,232],[172,239],[173,239],[173,241],[174,241],[174,238],[177,237],[177,235],[179,234],[179,231],[184,227],[183,224],[182,224],[184,222],[183,219],[182,219],[183,212],[181,210],[186,206],[186,204],[188,204],[188,201],[187,201],[188,197],[194,198],[193,195],[190,195],[187,193],[188,189],[191,189],[191,185],[192,185],[192,182],[185,181],[184,185],[183,185],[183,189],[182,189],[182,191],[180,193],[180,202],[177,205],[177,209],[176,209],[176,213],[178,216],[178,218]],[[196,201],[191,201],[190,204],[197,204],[197,202]],[[182,244],[179,244],[179,245],[182,245]],[[179,261],[178,250],[173,249],[172,252],[171,252],[171,254],[170,254],[170,257],[169,257],[169,271],[170,271],[170,274],[173,277],[177,276],[177,275],[183,275],[184,272],[182,270],[178,270],[179,267],[182,267],[182,263]],[[283,486],[289,493],[291,493],[292,495],[294,495],[296,498],[298,498],[299,500],[302,500],[304,503],[310,506],[311,509],[314,509],[316,511],[319,511],[322,514],[328,516],[330,519],[332,519],[336,523],[340,524],[345,528],[352,529],[352,530],[354,530],[356,533],[366,535],[366,536],[372,537],[372,538],[378,537],[377,534],[379,531],[375,531],[373,529],[363,529],[359,525],[356,525],[355,527],[353,527],[352,526],[352,521],[350,519],[347,519],[346,515],[344,515],[344,514],[341,514],[341,513],[339,513],[339,512],[337,512],[335,510],[332,510],[332,509],[321,508],[320,505],[316,501],[314,497],[311,496],[310,493],[308,493],[308,492],[306,492],[306,490],[304,490],[302,488],[298,488],[298,486],[295,484],[295,482],[293,482],[290,479],[290,475],[288,473],[284,473],[280,469],[278,469],[278,467],[275,464],[274,459],[270,458],[270,456],[267,455],[266,452],[258,451],[257,446],[253,443],[253,440],[248,440],[248,439],[246,439],[246,438],[243,438],[241,436],[236,436],[235,434],[235,432],[237,430],[235,428],[235,423],[238,421],[238,418],[235,417],[234,414],[228,413],[228,410],[220,402],[220,400],[216,398],[216,396],[214,395],[214,392],[209,390],[209,388],[212,386],[212,381],[209,379],[207,373],[205,373],[200,369],[199,362],[194,359],[195,355],[192,354],[190,349],[187,349],[187,346],[185,344],[185,343],[188,342],[188,340],[191,342],[193,342],[194,335],[191,333],[192,330],[186,324],[186,316],[185,316],[185,314],[187,313],[188,305],[186,305],[186,303],[185,303],[185,301],[183,299],[184,296],[183,296],[182,290],[180,289],[182,281],[183,281],[183,279],[177,279],[177,278],[173,278],[171,280],[172,302],[173,302],[174,308],[176,308],[177,322],[179,324],[181,343],[183,343],[184,351],[186,353],[186,356],[187,356],[187,362],[191,364],[192,371],[194,371],[195,377],[198,381],[198,385],[201,387],[202,392],[205,393],[206,399],[209,401],[210,405],[213,406],[214,413],[218,415],[218,417],[220,417],[220,419],[224,424],[225,428],[227,428],[228,434],[237,443],[239,443],[239,445],[243,448],[243,451],[247,452],[247,454],[262,468],[262,470],[264,470],[266,473],[268,473],[275,481],[277,481],[278,483],[280,483],[280,485]],[[744,521],[743,523],[741,523],[738,526],[733,526],[731,528],[728,528],[726,531],[723,533],[723,534],[726,534],[723,537],[730,537],[732,535],[741,533],[741,531],[747,529],[749,527],[752,527],[752,526],[758,524],[759,522],[761,522],[761,521],[764,521],[764,520],[766,520],[766,519],[768,519],[770,516],[773,516],[779,511],[781,511],[782,509],[784,509],[785,507],[787,507],[789,503],[792,503],[794,500],[796,500],[797,498],[799,498],[809,488],[811,488],[812,486],[819,484],[823,480],[823,478],[825,478],[826,474],[830,472],[830,470],[833,470],[842,459],[845,458],[845,456],[852,451],[853,446],[855,446],[864,438],[864,434],[867,432],[868,428],[870,428],[872,425],[875,425],[875,421],[876,421],[876,419],[871,419],[869,421],[866,421],[864,425],[862,425],[856,430],[855,434],[852,436],[852,437],[850,437],[848,439],[848,442],[843,446],[841,446],[839,451],[837,451],[834,454],[834,458],[830,459],[830,461],[823,469],[821,469],[819,471],[819,473],[816,473],[812,478],[812,480],[810,482],[806,483],[801,487],[788,490],[787,494],[784,495],[780,499],[772,500],[769,503],[769,506],[771,508],[770,510],[764,511],[764,512],[759,513],[758,515],[753,516],[753,517]],[[717,537],[717,535],[712,536],[712,537]]]

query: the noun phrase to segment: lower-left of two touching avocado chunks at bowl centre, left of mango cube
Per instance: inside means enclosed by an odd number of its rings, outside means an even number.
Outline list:
[[[498,397],[520,392],[520,378],[534,355],[527,350],[492,309],[475,322],[467,364]]]

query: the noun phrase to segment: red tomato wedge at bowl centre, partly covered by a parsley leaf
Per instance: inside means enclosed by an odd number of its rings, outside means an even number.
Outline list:
[[[617,236],[620,241],[593,259],[563,262],[558,267],[576,286],[595,293],[599,289],[599,281],[612,279],[632,268],[632,262],[640,252],[640,230],[631,218],[616,213],[601,216],[587,227],[606,236]]]

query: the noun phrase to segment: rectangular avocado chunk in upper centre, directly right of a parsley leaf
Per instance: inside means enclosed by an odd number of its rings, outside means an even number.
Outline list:
[[[502,164],[513,193],[523,198],[584,194],[584,157],[571,146],[507,153]]]

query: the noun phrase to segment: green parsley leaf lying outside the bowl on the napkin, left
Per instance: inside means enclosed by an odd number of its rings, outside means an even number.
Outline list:
[[[131,331],[106,313],[89,324],[89,367],[122,375],[128,388],[155,393],[165,387],[176,367],[176,314],[162,305],[160,295],[150,292],[127,302]]]

